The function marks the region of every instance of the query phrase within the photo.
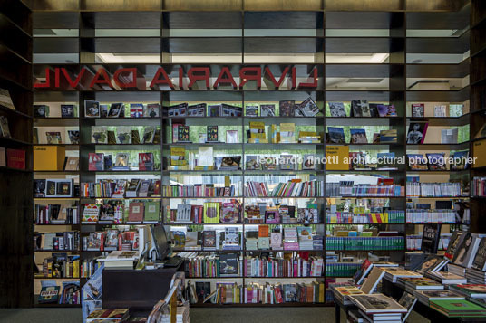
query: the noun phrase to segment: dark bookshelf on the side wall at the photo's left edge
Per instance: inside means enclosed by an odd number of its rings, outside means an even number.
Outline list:
[[[5,290],[0,297],[0,307],[19,308],[30,307],[33,299],[30,9],[22,1],[3,1],[0,4],[0,30],[0,88],[3,97],[0,118],[6,119],[10,133],[6,136],[0,131],[0,159],[3,160],[0,163],[0,235],[3,246],[0,285]],[[11,102],[5,101],[7,97]],[[10,152],[15,155],[10,156]]]

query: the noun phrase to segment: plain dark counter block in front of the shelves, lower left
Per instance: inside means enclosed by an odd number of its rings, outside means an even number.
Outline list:
[[[103,309],[151,310],[170,290],[170,281],[177,268],[158,270],[103,270]]]

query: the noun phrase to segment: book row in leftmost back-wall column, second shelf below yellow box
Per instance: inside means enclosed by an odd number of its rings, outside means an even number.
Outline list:
[[[79,224],[77,205],[66,207],[61,204],[34,205],[35,224]]]

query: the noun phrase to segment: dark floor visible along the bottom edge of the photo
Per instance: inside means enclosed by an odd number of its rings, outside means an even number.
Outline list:
[[[276,309],[190,309],[190,323],[306,323],[335,322],[334,308]],[[0,309],[1,323],[69,323],[81,322],[80,309]],[[341,323],[345,322],[344,313]],[[412,313],[407,322],[425,323],[425,318]]]

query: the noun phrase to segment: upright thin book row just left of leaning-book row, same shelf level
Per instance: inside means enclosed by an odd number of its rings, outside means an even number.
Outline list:
[[[164,197],[230,197],[237,196],[237,185],[215,187],[214,184],[163,185]]]

